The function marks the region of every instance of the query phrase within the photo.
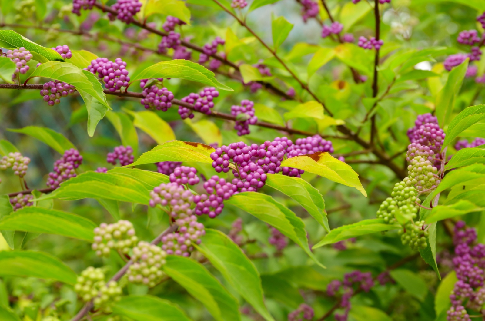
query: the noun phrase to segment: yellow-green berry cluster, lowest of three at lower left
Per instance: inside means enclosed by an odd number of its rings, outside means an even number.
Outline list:
[[[90,266],[78,276],[74,290],[79,294],[82,301],[93,300],[96,308],[105,312],[111,311],[111,305],[121,297],[122,290],[116,281],[104,281],[103,270]]]

